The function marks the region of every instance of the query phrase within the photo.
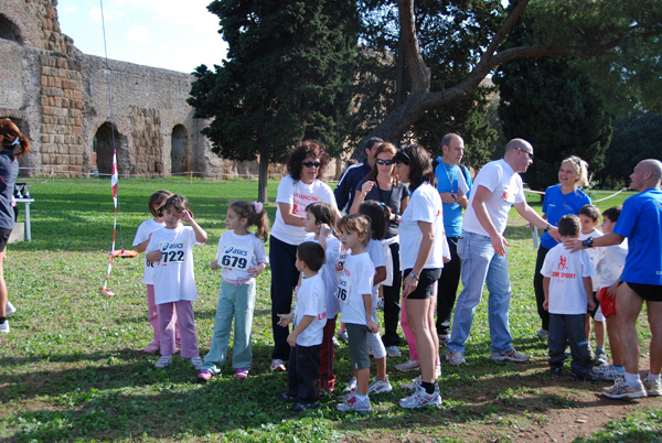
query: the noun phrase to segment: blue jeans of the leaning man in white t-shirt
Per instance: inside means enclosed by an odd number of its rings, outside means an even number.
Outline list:
[[[473,315],[482,296],[483,285],[488,284],[490,337],[492,353],[505,353],[513,348],[508,313],[512,294],[508,273],[508,253],[501,257],[494,252],[490,237],[462,231],[458,241],[458,256],[462,260],[462,284],[456,302],[452,318],[452,333],[448,350],[465,352],[465,342],[471,332]]]

